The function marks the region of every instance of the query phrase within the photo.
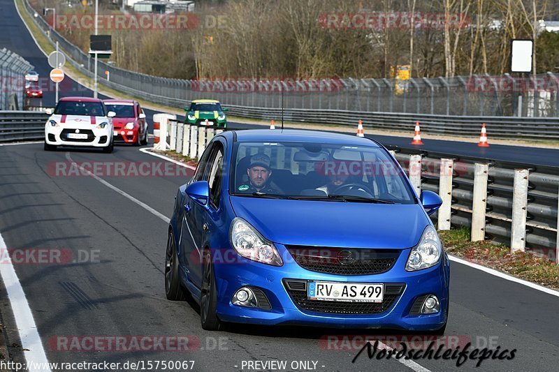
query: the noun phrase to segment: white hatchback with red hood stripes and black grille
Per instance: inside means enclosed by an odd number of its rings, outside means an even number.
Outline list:
[[[103,101],[89,97],[64,97],[45,124],[45,151],[58,146],[102,147],[112,152],[112,117]]]

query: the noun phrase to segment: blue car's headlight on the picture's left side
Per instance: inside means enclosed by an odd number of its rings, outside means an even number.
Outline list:
[[[264,239],[247,221],[235,217],[231,223],[231,245],[242,257],[267,265],[282,266],[282,258],[271,241]]]

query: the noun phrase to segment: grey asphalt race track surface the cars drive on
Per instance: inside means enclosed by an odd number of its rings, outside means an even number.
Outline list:
[[[0,47],[13,48],[34,64],[41,76],[46,76],[49,70],[46,59],[20,22],[13,2],[0,0],[0,14],[3,19]],[[77,85],[75,90],[77,93],[65,95],[90,95],[90,91],[78,89]],[[43,98],[45,106],[54,103],[51,94],[54,96],[49,92]],[[387,137],[386,141],[398,143],[393,137]],[[435,141],[425,142],[426,147],[435,146]],[[463,148],[459,142],[436,142],[445,146],[437,149],[441,152]],[[551,152],[544,150],[540,153],[497,146],[489,150],[495,151],[491,157],[524,156],[527,163],[558,164],[557,156],[553,158]],[[68,174],[64,170],[71,162],[81,165],[147,163],[154,167],[168,164],[137,147],[115,147],[112,154],[102,154],[66,149],[45,152],[42,143],[0,146],[0,233],[6,246],[31,252],[46,249],[63,253],[62,260],[57,262],[29,259],[14,262],[49,362],[193,360],[194,371],[258,371],[264,369],[249,369],[246,362],[271,360],[287,361],[288,371],[293,370],[289,366],[294,361],[317,363],[307,371],[557,369],[559,297],[457,262],[451,263],[450,318],[447,337],[442,342],[448,348],[456,346],[454,342],[458,341],[460,345],[471,342],[472,348],[516,349],[514,359],[486,360],[478,369],[476,361],[467,360],[458,369],[456,360],[398,362],[368,359],[363,353],[352,363],[361,346],[353,348],[351,341],[343,340],[353,340],[352,335],[401,337],[402,334],[245,325],[231,327],[227,332],[206,332],[201,328],[195,304],[169,302],[164,293],[166,218],[173,211],[177,187],[188,181],[191,170],[171,167],[163,175],[154,172],[145,177],[108,174],[94,178]],[[171,174],[173,170],[177,175]],[[8,305],[2,282],[1,320],[7,327],[4,336],[8,345],[12,345],[10,350],[15,359],[24,362],[28,351],[18,352],[17,344],[19,334],[27,329],[17,331]],[[324,342],[328,335],[342,343]],[[79,342],[95,336],[102,339],[163,336],[174,339],[175,343],[164,345],[162,350],[146,347],[126,352],[106,345],[89,348]],[[176,340],[184,337],[188,338],[190,350],[173,350]],[[78,341],[72,344],[68,340]]]

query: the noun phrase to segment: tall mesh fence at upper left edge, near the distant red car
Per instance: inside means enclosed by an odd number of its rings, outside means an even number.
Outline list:
[[[18,110],[23,103],[25,74],[33,66],[18,54],[0,50],[0,110]]]

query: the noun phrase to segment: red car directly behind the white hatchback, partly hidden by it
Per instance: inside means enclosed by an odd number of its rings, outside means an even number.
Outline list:
[[[105,100],[108,111],[116,112],[112,118],[115,126],[113,140],[140,146],[147,144],[147,121],[138,101]]]

